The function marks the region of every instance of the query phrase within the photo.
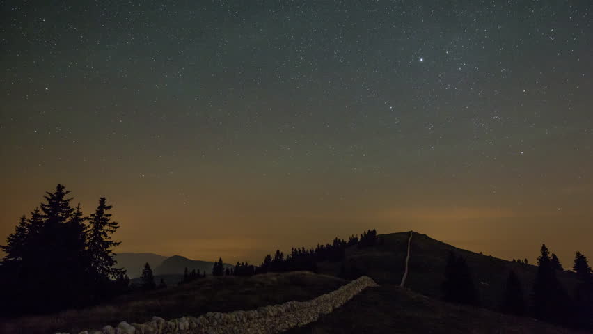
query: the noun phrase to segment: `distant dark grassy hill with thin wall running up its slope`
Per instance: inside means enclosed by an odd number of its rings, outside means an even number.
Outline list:
[[[399,284],[402,278],[409,232],[379,234],[377,245],[367,248],[352,246],[346,251],[345,264],[348,270],[356,268],[379,284]],[[426,234],[414,232],[411,241],[411,257],[406,287],[433,298],[441,297],[441,283],[449,252],[466,258],[473,273],[482,306],[498,310],[505,289],[507,276],[514,270],[521,280],[525,301],[530,300],[537,267],[501,260],[496,257],[474,253],[432,239]],[[337,274],[340,264],[319,264],[322,273]],[[562,285],[572,292],[578,283],[572,271],[557,273]]]

